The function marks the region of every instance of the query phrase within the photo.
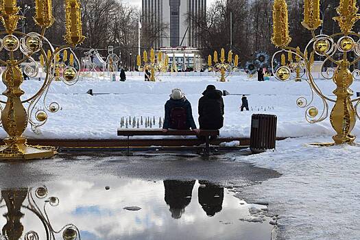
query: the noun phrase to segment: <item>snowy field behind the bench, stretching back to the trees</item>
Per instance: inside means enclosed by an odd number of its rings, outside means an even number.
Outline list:
[[[220,131],[221,137],[250,136],[252,114],[274,114],[278,116],[279,137],[331,136],[334,135],[328,120],[309,124],[304,119],[305,110],[296,106],[300,96],[311,98],[311,91],[306,82],[257,82],[245,75],[230,77],[230,82],[217,82],[214,76],[203,77],[160,77],[161,82],[144,82],[143,77],[128,76],[126,82],[110,82],[110,80],[83,79],[74,86],[62,82],[53,82],[47,95],[47,104],[57,101],[62,110],[49,113],[47,123],[40,128],[40,134],[34,134],[29,128],[25,136],[33,139],[119,139],[117,128],[121,117],[159,117],[164,115],[164,104],[169,99],[172,88],[181,88],[191,101],[193,117],[197,122],[197,101],[208,84],[214,84],[220,90],[230,93],[250,94],[249,112],[241,112],[241,96],[224,97],[225,121]],[[21,86],[29,97],[42,84],[42,81],[29,80]],[[328,80],[317,80],[320,88],[328,95],[335,86]],[[2,88],[2,89],[1,89]],[[0,91],[5,90],[1,85]],[[93,93],[110,93],[106,95],[88,95]],[[360,91],[360,82],[352,86]],[[4,97],[1,99],[5,100]],[[315,106],[322,109],[320,99],[315,98]],[[39,108],[42,106],[39,104]],[[331,109],[331,106],[330,106]],[[156,124],[158,127],[158,124]],[[360,133],[360,127],[354,130]],[[5,137],[0,132],[0,137]]]

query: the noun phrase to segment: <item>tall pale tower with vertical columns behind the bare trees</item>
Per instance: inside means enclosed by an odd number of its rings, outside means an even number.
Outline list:
[[[167,26],[154,48],[200,47],[197,19],[206,17],[206,0],[143,0],[143,21]]]

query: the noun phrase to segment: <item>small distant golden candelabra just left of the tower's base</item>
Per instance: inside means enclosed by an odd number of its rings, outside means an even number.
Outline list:
[[[156,58],[154,49],[151,49],[149,58],[147,57],[147,51],[144,51],[143,62],[141,62],[141,56],[138,55],[136,64],[139,71],[145,72],[150,82],[156,82],[156,77],[162,72],[167,72],[167,69],[169,69],[169,56],[159,51]],[[150,75],[147,74],[146,70],[150,72]]]

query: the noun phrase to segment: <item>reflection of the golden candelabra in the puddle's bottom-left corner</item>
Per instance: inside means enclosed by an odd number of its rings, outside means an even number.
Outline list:
[[[40,238],[38,231],[26,230],[31,229],[31,227],[26,226],[26,228],[21,223],[21,219],[25,217],[25,213],[22,211],[27,211],[32,213],[32,221],[34,217],[37,217],[38,226],[43,226],[43,235],[46,236],[47,240],[55,240],[56,234],[62,233],[62,238],[67,240],[75,240],[77,237],[80,239],[80,232],[73,224],[67,224],[60,231],[53,230],[49,217],[47,216],[47,204],[50,206],[58,206],[59,200],[58,197],[47,197],[46,187],[39,187],[35,191],[35,196],[33,197],[32,188],[19,188],[19,189],[4,189],[1,190],[0,198],[0,208],[5,208],[5,213],[3,217],[6,219],[6,223],[2,228],[0,239],[5,240],[39,240],[45,239]],[[38,202],[36,200],[43,200],[43,207],[39,208]],[[37,229],[38,230],[38,229]],[[25,232],[25,235],[24,235]]]

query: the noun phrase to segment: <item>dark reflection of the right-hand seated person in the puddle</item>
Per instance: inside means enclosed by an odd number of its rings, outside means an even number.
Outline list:
[[[224,188],[219,187],[208,181],[199,181],[200,186],[198,190],[199,204],[206,212],[206,215],[213,217],[215,213],[219,213],[222,210],[222,202],[224,200]]]

